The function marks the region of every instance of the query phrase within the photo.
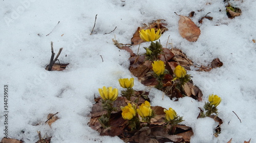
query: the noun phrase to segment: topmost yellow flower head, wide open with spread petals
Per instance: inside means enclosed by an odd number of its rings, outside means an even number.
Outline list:
[[[158,31],[155,31],[155,28],[152,28],[151,30],[141,30],[139,31],[140,38],[144,41],[156,41],[161,36],[161,30],[158,29]]]

